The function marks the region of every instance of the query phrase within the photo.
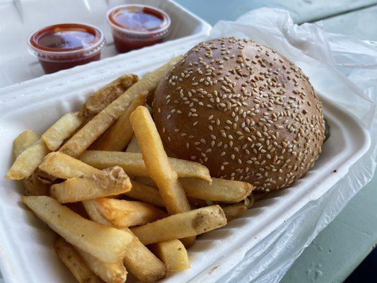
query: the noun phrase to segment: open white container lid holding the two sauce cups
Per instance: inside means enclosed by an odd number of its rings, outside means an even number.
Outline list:
[[[120,4],[146,4],[166,11],[172,31],[164,42],[206,35],[211,25],[172,0],[4,0],[0,1],[0,87],[44,74],[28,53],[26,39],[33,31],[55,23],[90,23],[103,31],[108,45],[101,58],[115,56],[111,30],[105,21],[110,8]]]

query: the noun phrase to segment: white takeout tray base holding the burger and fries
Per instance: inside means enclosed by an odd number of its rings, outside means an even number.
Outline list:
[[[200,39],[166,42],[0,89],[0,175],[11,166],[12,141],[21,131],[42,134],[108,81],[126,72],[142,76]],[[164,282],[215,282],[243,259],[245,247],[255,246],[303,205],[323,195],[366,152],[370,138],[359,121],[320,97],[331,137],[311,171],[288,189],[257,202],[240,219],[199,236],[189,249],[191,268],[169,274]],[[0,179],[0,268],[6,282],[74,282],[54,253],[54,234],[21,204],[21,192],[18,183]]]

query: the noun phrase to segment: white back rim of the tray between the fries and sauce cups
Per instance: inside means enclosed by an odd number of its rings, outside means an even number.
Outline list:
[[[87,90],[90,92],[135,67],[135,72],[142,76],[174,56],[187,52],[205,37],[207,35],[186,37],[179,42],[172,41],[163,45],[145,47],[103,61],[0,88],[0,107],[2,110],[18,108],[25,99],[30,99],[29,106],[32,107],[34,104],[43,103],[62,94],[67,96],[88,86],[91,87]]]

